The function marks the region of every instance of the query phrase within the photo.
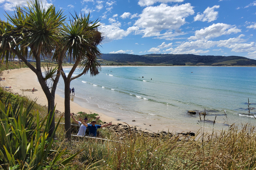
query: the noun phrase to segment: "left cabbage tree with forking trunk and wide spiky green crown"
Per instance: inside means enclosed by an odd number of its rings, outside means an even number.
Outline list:
[[[48,87],[47,82],[41,70],[41,58],[52,55],[56,47],[60,45],[60,37],[62,26],[65,21],[63,12],[56,11],[53,5],[44,8],[38,0],[28,4],[28,8],[20,6],[15,7],[15,14],[6,14],[7,21],[1,21],[0,26],[0,54],[6,56],[6,61],[13,54],[37,75],[38,81],[46,95],[48,101],[48,111],[50,112],[53,121],[49,134],[52,135],[54,123],[54,97],[57,83],[60,77],[62,59],[59,58],[56,76],[52,87]],[[27,54],[30,49],[30,55],[36,60],[36,67],[32,66],[27,61]],[[6,55],[9,52],[12,55]]]

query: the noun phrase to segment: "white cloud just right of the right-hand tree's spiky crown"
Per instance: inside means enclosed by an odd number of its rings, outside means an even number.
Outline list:
[[[110,42],[112,40],[120,40],[123,37],[128,36],[132,32],[138,31],[138,27],[129,27],[126,31],[120,29],[121,23],[114,22],[111,25],[105,25],[104,23],[100,26],[99,31],[105,34],[104,42]]]

